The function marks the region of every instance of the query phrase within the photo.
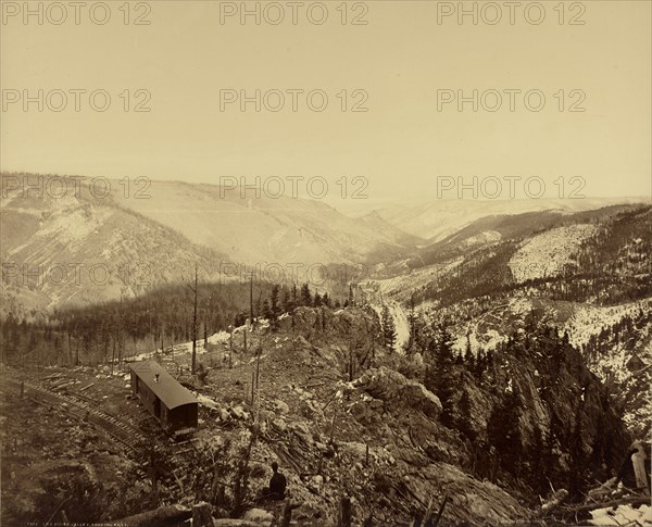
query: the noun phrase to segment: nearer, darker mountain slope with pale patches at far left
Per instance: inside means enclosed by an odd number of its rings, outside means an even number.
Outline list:
[[[14,314],[134,297],[190,279],[195,265],[216,278],[227,260],[87,187],[57,198],[8,191],[0,222],[2,303]]]

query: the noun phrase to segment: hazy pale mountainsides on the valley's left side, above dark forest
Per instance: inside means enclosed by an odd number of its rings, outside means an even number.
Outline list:
[[[124,181],[66,180],[63,192],[57,176],[23,191],[16,183],[39,176],[1,177],[4,311],[133,297],[190,283],[195,265],[202,280],[241,279],[249,268],[304,279],[311,266],[316,278],[324,266],[396,258],[417,241],[375,214],[351,218],[315,200],[242,199],[238,190],[178,181],[127,190]]]

